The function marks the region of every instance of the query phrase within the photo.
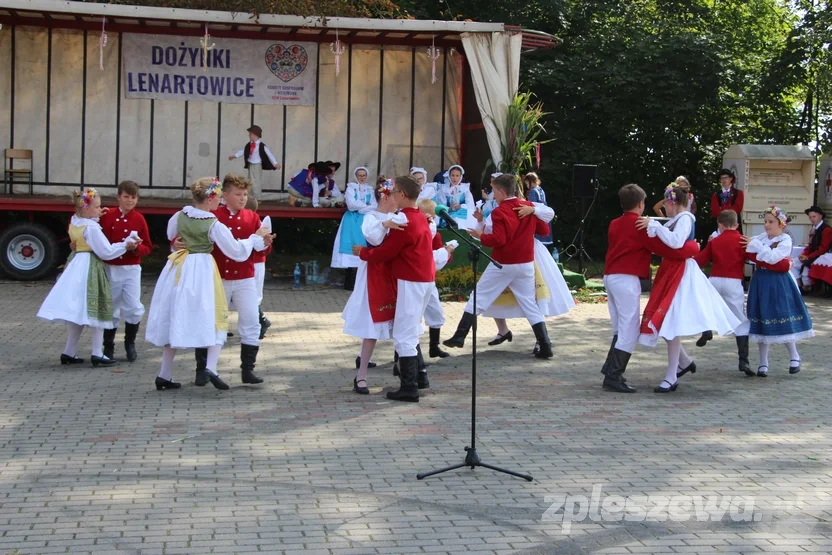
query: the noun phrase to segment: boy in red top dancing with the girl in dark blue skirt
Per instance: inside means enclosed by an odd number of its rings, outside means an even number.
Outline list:
[[[711,264],[711,275],[708,281],[714,286],[722,300],[731,309],[740,325],[734,328],[734,335],[737,339],[737,354],[739,356],[740,372],[749,372],[748,365],[748,328],[750,326],[745,317],[745,291],[742,288],[742,280],[745,272],[745,247],[742,244],[742,235],[737,231],[739,222],[737,213],[733,210],[724,210],[717,216],[719,235],[710,241],[705,250],[696,255],[696,263],[700,268]],[[697,347],[704,347],[705,344],[714,338],[710,330],[702,334],[696,342]]]

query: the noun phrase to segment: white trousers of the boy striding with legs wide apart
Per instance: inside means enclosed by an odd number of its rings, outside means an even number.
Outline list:
[[[514,293],[517,304],[531,325],[534,326],[544,320],[535,297],[534,262],[503,264],[502,269],[489,263],[477,282],[476,312],[474,312],[473,294],[468,299],[468,304],[465,305],[465,312],[482,314],[497,300],[497,297],[502,295],[506,287]]]

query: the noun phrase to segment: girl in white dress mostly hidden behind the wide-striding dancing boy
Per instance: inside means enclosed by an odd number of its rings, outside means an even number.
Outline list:
[[[492,181],[500,175],[502,174],[494,174]],[[517,196],[523,198],[520,188],[518,188]],[[539,220],[549,223],[555,217],[554,209],[537,202],[533,204],[533,207],[523,206],[517,210],[520,218],[535,216]],[[491,218],[486,217],[485,213],[483,213],[483,216],[485,219],[480,225],[484,233],[491,233]],[[569,286],[566,285],[566,280],[563,279],[563,274],[560,273],[552,255],[549,254],[546,246],[537,237],[534,240],[534,267],[535,296],[537,306],[540,307],[540,312],[543,316],[560,316],[569,312],[575,306],[575,299],[572,298],[572,293],[569,292]],[[520,305],[517,304],[517,299],[508,289],[494,301],[494,304],[483,312],[483,316],[494,318],[494,323],[497,324],[497,336],[488,342],[492,346],[499,345],[505,341],[511,343],[513,340],[506,319],[525,318],[523,311],[520,309]],[[539,349],[540,345],[535,343],[532,354],[537,353]]]

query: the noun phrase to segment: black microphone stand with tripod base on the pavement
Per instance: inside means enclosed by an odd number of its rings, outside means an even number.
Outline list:
[[[419,473],[416,475],[416,479],[422,480],[435,474],[442,474],[443,472],[456,470],[457,468],[463,468],[465,466],[470,466],[471,470],[478,466],[481,466],[483,468],[488,468],[490,470],[495,470],[504,474],[510,474],[518,478],[523,478],[531,482],[534,478],[532,478],[528,474],[520,474],[519,472],[514,472],[512,470],[506,470],[504,468],[486,464],[482,462],[479,453],[477,453],[477,268],[479,265],[480,255],[490,260],[491,263],[494,264],[494,266],[496,266],[497,268],[502,268],[503,265],[495,261],[486,252],[484,252],[479,247],[479,245],[474,243],[473,239],[467,233],[462,233],[456,227],[451,226],[451,222],[456,224],[454,220],[451,220],[450,222],[448,222],[448,220],[445,221],[448,223],[448,229],[450,229],[454,233],[454,235],[459,237],[461,241],[468,245],[468,260],[471,261],[471,268],[474,270],[474,323],[471,325],[471,445],[465,446],[466,455],[464,462],[454,464],[446,468],[440,468],[438,470],[431,470],[428,472]]]

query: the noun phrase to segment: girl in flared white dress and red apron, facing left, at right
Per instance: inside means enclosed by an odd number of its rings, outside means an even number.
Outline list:
[[[664,209],[670,217],[664,226],[651,218],[639,218],[636,227],[647,229],[650,237],[681,249],[693,241],[695,216],[687,211],[688,194],[675,183],[665,189]],[[678,378],[696,372],[696,364],[682,347],[682,337],[716,330],[719,335],[732,333],[740,321],[722,300],[719,292],[699,269],[693,258],[663,258],[656,273],[650,300],[644,309],[639,343],[655,347],[659,337],[667,342],[667,373],[653,390],[676,391]]]

